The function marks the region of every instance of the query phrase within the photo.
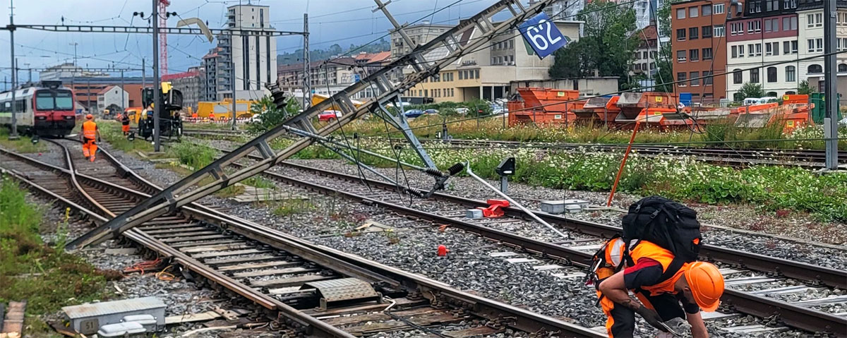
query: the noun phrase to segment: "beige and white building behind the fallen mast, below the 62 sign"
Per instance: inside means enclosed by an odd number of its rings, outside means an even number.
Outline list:
[[[556,27],[568,42],[579,40],[581,21],[556,21]],[[463,36],[463,42],[479,36],[473,31],[469,37]],[[392,39],[393,41],[393,39]],[[514,81],[548,80],[548,69],[553,64],[553,56],[538,58],[532,47],[523,41],[517,30],[510,34],[497,36],[487,47],[477,48],[455,64],[440,72],[438,79],[431,78],[413,86],[406,92],[410,97],[432,97],[436,103],[453,101],[464,102],[474,99],[494,100],[509,97]],[[432,53],[443,58],[444,53]]]

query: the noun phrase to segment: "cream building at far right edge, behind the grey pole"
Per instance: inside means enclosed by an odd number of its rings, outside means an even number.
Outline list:
[[[837,0],[836,5],[838,14],[835,24],[835,47],[838,51],[843,51],[847,49],[847,1]],[[808,80],[809,85],[816,87],[818,91],[823,91],[823,0],[797,0],[797,20],[798,57],[821,56],[800,61],[797,64],[798,76],[800,80]],[[838,91],[842,97],[847,97],[847,54],[838,54],[837,58],[838,66],[834,73],[838,76]]]

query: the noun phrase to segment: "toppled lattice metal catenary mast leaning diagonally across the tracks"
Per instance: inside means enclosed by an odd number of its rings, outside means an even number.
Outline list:
[[[173,213],[177,208],[191,202],[196,202],[200,198],[206,197],[215,191],[232,186],[236,182],[246,180],[253,175],[274,167],[277,163],[284,161],[286,158],[291,158],[296,152],[301,151],[313,143],[320,143],[321,138],[324,136],[329,136],[335,130],[339,130],[344,125],[368,113],[373,113],[380,119],[385,119],[389,125],[403,132],[403,135],[411,143],[412,149],[424,161],[426,166],[424,171],[429,175],[437,176],[435,177],[436,185],[433,189],[435,191],[435,189],[439,188],[439,181],[443,184],[446,177],[456,174],[455,172],[457,171],[461,171],[462,167],[452,167],[449,174],[440,173],[435,168],[435,163],[432,162],[432,159],[429,158],[429,155],[421,147],[420,142],[413,135],[412,130],[407,124],[406,117],[402,112],[402,105],[400,104],[401,94],[411,89],[412,86],[423,82],[424,79],[438,76],[440,69],[445,68],[449,64],[456,63],[459,58],[489,43],[495,36],[515,30],[525,19],[539,14],[545,6],[553,3],[553,1],[542,0],[527,6],[520,3],[519,0],[501,0],[489,8],[485,8],[479,14],[468,19],[463,19],[459,25],[435,37],[432,41],[418,44],[412,41],[403,30],[406,25],[397,24],[396,20],[388,13],[385,8],[388,3],[375,0],[379,6],[378,9],[381,9],[388,16],[392,25],[395,26],[396,31],[400,33],[404,41],[410,46],[413,46],[411,52],[400,58],[396,58],[382,69],[346,87],[323,102],[285,120],[284,123],[248,141],[243,146],[224,155],[205,168],[198,169],[173,186],[169,186],[167,189],[139,203],[136,207],[131,208],[125,213],[119,214],[114,219],[108,221],[108,223],[102,224],[84,235],[80,235],[80,237],[71,241],[66,248],[68,250],[77,250],[90,245],[96,245],[102,241],[116,238],[125,230],[130,230],[164,213]],[[511,14],[511,16],[495,23],[493,21],[495,14],[501,14],[501,16]],[[426,57],[428,55],[435,55],[437,57],[427,59]],[[402,69],[409,66],[413,69],[412,74],[407,75],[400,83],[393,84],[389,80],[389,75],[394,72],[402,72]],[[278,97],[280,94],[279,89],[275,86],[269,89],[274,92],[274,97]],[[351,97],[357,92],[365,91],[366,89],[374,91],[374,98],[357,107],[353,104]],[[393,103],[399,109],[390,109],[390,103]],[[316,126],[314,124],[315,115],[332,107],[339,108],[343,114],[332,123]],[[291,134],[301,137],[292,143],[291,146],[279,152],[275,152],[270,147],[270,141],[280,136]],[[234,169],[234,167],[230,166],[231,163],[246,158],[251,152],[259,153],[263,159],[242,169]],[[407,192],[421,196],[421,194],[414,193],[413,191]],[[429,193],[431,192],[429,191]]]

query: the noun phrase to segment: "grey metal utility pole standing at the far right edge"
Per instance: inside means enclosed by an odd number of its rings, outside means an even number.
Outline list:
[[[835,9],[834,1],[823,2],[823,53],[826,54],[823,61],[824,104],[827,106],[827,114],[823,119],[823,136],[827,139],[827,159],[825,166],[829,170],[839,169],[839,91],[838,80],[835,76]]]

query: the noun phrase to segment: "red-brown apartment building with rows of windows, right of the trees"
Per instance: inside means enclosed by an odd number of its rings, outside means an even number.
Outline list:
[[[727,98],[727,12],[729,0],[690,0],[671,5],[674,90],[690,92],[695,103],[718,103]],[[664,79],[663,79],[664,80]],[[665,81],[668,81],[667,79]]]

